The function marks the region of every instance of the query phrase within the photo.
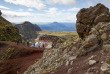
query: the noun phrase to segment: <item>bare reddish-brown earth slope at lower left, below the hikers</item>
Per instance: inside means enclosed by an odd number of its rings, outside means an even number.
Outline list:
[[[10,58],[0,63],[0,74],[23,74],[30,65],[42,57],[45,49],[31,48],[21,44],[17,45],[13,42],[0,41],[0,51],[7,50],[10,47],[14,48],[13,54]]]

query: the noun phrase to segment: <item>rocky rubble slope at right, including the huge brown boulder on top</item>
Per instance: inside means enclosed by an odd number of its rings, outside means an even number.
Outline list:
[[[76,24],[79,38],[72,38],[58,48],[45,50],[42,59],[30,66],[24,74],[110,74],[108,8],[97,4],[81,9],[80,12],[78,20],[83,23]]]

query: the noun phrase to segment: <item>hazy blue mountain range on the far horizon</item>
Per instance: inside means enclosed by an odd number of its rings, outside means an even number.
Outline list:
[[[38,24],[39,27],[43,30],[48,31],[75,31],[75,23],[48,23],[48,24]]]

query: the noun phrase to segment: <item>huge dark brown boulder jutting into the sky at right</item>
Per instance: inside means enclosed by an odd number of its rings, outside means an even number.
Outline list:
[[[110,21],[109,9],[100,3],[94,7],[81,9],[76,17],[76,29],[79,37],[82,39],[85,36],[88,36],[91,28],[97,25],[99,22]]]

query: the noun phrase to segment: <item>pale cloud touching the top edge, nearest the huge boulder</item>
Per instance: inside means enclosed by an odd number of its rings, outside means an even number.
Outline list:
[[[48,4],[63,4],[63,5],[69,5],[69,4],[75,4],[75,0],[47,0]]]

